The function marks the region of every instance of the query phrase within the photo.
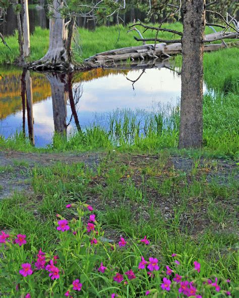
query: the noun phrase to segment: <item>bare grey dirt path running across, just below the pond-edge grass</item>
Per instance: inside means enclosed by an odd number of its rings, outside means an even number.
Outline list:
[[[11,196],[15,191],[32,192],[31,169],[35,166],[51,166],[55,162],[67,164],[84,163],[86,167],[94,168],[106,157],[104,153],[23,153],[15,151],[0,152],[0,199]],[[132,158],[149,159],[148,156],[132,156]],[[152,158],[157,159],[157,156]],[[190,172],[197,167],[205,167],[208,182],[218,180],[217,183],[226,185],[233,175],[239,181],[238,165],[227,160],[195,161],[187,157],[170,156],[168,167]]]

